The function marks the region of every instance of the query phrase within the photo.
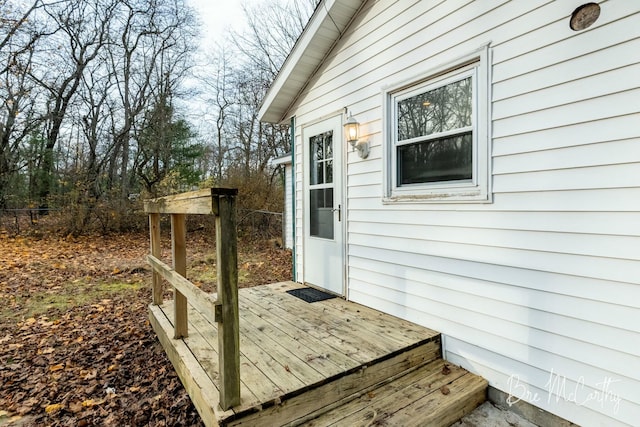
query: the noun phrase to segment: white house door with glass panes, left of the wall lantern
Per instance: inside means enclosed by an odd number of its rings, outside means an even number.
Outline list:
[[[344,295],[342,116],[303,127],[304,281]]]

